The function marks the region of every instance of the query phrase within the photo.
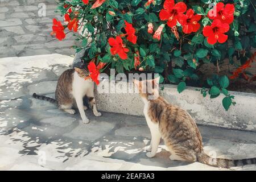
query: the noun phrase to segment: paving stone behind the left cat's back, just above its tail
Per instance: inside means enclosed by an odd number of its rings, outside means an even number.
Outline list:
[[[56,89],[57,81],[43,81],[38,84],[32,84],[28,86],[29,94],[47,94],[54,93]]]

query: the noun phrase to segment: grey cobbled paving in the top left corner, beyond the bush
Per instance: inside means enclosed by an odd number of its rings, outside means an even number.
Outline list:
[[[46,5],[46,16],[39,16],[42,10],[39,4]],[[55,13],[56,7],[53,0],[0,0],[0,57],[73,55],[72,34],[67,34],[61,42],[50,35],[52,18],[63,21]]]

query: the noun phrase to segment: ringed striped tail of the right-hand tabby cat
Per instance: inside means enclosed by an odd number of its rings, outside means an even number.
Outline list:
[[[247,164],[256,164],[256,158],[238,159],[238,160],[212,158],[209,155],[205,154],[204,151],[201,152],[200,154],[197,154],[197,161],[203,164],[208,164],[209,166],[223,167],[223,168],[244,166]]]

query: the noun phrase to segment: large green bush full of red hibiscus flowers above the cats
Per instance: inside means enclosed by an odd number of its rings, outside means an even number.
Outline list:
[[[251,0],[60,0],[58,10],[64,23],[53,19],[52,35],[63,40],[65,29],[80,31],[81,46],[74,48],[86,50],[83,60],[96,84],[102,68],[155,72],[160,82],[178,84],[179,93],[197,85],[204,97],[224,94],[228,110],[236,104],[227,90],[228,76],[202,80],[198,69],[208,63],[218,67],[226,58],[234,64],[236,57],[236,67],[242,68],[232,79],[247,76],[243,69],[254,61],[249,59],[256,42]]]

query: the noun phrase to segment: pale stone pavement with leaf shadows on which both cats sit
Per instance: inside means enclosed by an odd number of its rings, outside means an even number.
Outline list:
[[[200,163],[172,162],[163,143],[146,157],[150,131],[142,117],[102,113],[71,115],[36,92],[54,97],[58,76],[72,57],[41,55],[0,59],[0,170],[224,170]],[[204,149],[220,158],[256,156],[256,133],[199,126]],[[232,170],[256,170],[255,165]]]

